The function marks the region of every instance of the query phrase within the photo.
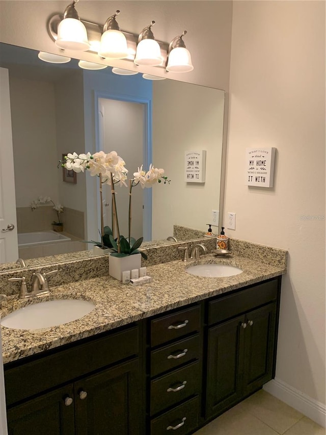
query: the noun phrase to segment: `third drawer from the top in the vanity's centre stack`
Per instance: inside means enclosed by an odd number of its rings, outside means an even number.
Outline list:
[[[199,362],[151,381],[151,415],[200,392]]]

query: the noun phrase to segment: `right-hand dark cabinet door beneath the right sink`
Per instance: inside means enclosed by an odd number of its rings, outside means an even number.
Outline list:
[[[259,389],[273,376],[276,304],[246,316],[244,331],[243,396]]]

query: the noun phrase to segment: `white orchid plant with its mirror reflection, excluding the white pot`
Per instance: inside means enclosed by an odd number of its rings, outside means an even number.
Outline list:
[[[76,152],[69,153],[63,161],[59,161],[59,165],[74,172],[88,171],[92,176],[99,177],[99,194],[101,206],[101,242],[94,242],[102,248],[112,248],[115,257],[126,257],[136,253],[141,253],[142,257],[147,259],[144,252],[140,252],[138,248],[143,242],[143,237],[135,240],[131,237],[131,190],[134,186],[140,185],[143,189],[150,188],[156,183],[170,184],[167,176],[164,176],[164,169],[155,168],[152,164],[146,172],[143,170],[143,165],[138,168],[138,172],[133,173],[133,178],[128,180],[128,169],[125,168],[124,160],[118,156],[116,151],[105,153],[103,151],[95,152],[91,155],[77,154]],[[127,184],[128,182],[128,184]],[[112,194],[112,229],[104,226],[103,223],[103,201],[102,201],[102,185],[108,184],[111,186]],[[117,215],[117,205],[115,198],[115,185],[125,186],[129,189],[129,220],[128,220],[128,237],[120,234],[119,221]],[[115,232],[117,237],[115,237]]]

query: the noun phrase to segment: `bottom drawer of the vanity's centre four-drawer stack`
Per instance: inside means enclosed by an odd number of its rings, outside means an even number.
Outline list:
[[[187,435],[198,427],[199,398],[194,397],[151,421],[151,435]],[[176,430],[176,432],[174,432]]]

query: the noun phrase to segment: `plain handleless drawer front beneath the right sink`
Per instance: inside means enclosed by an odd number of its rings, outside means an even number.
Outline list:
[[[276,300],[278,283],[278,279],[274,279],[209,302],[208,324],[212,325],[230,319],[259,305]]]

